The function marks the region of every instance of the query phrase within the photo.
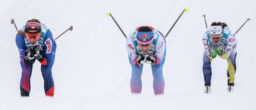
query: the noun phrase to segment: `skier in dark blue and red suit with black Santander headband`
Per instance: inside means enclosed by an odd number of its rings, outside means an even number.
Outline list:
[[[20,54],[22,68],[20,80],[21,96],[29,96],[30,77],[32,67],[36,60],[41,65],[44,78],[44,91],[46,96],[53,96],[54,82],[51,69],[54,63],[56,43],[48,27],[41,24],[37,19],[28,20],[16,35],[16,45]]]

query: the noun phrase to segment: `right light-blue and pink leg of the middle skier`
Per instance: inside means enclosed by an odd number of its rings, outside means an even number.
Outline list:
[[[163,66],[165,62],[166,51],[164,52],[163,60],[157,65],[151,65],[153,75],[153,89],[155,94],[164,94],[164,76]]]

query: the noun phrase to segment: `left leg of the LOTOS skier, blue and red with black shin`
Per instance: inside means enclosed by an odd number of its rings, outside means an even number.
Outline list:
[[[32,68],[33,68],[33,63],[35,62],[36,59],[32,61],[30,65],[26,65],[20,61],[21,65],[21,79],[20,79],[20,95],[21,96],[29,96],[30,93],[30,77],[32,74]]]

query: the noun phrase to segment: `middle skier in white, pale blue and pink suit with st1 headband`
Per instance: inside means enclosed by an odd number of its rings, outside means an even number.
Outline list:
[[[132,67],[131,93],[141,93],[143,64],[150,64],[154,77],[154,94],[164,94],[163,65],[166,45],[164,35],[149,26],[136,28],[126,40],[126,49]]]

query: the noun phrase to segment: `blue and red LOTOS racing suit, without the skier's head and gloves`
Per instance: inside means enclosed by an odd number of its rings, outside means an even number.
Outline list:
[[[21,31],[24,31],[24,28],[21,28]],[[53,41],[51,31],[41,24],[42,34],[40,39],[36,44],[31,45],[26,39],[25,34],[16,35],[16,45],[20,54],[20,66],[22,68],[21,80],[20,80],[20,94],[21,96],[29,96],[30,93],[30,77],[32,74],[33,64],[36,60],[34,58],[30,64],[24,63],[25,52],[28,48],[33,49],[35,46],[40,46],[40,49],[43,49],[44,60],[41,61],[41,72],[44,78],[44,91],[48,96],[54,95],[54,82],[52,78],[51,69],[53,67],[56,51],[56,43]]]

